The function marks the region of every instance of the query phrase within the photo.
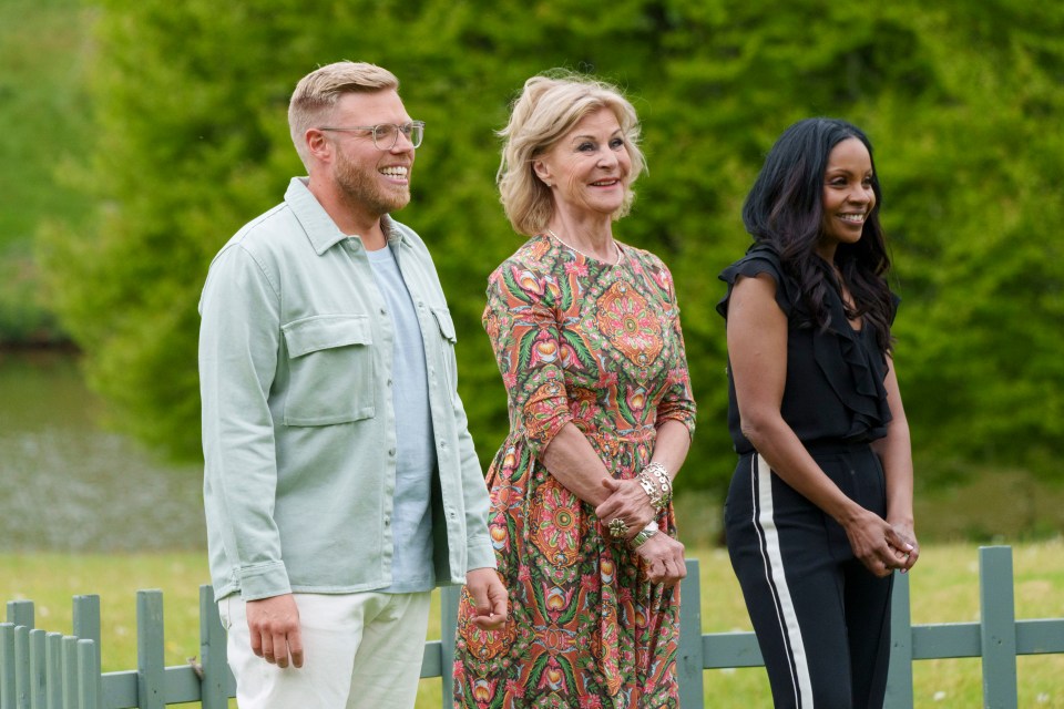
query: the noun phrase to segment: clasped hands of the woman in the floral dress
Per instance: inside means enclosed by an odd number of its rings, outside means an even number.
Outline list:
[[[630,542],[657,517],[649,496],[636,480],[606,479],[602,484],[610,492],[610,497],[595,507],[595,514],[598,515],[603,534],[607,538]],[[620,537],[611,534],[610,523],[614,520],[624,523],[625,531]],[[614,525],[614,528],[621,526]],[[636,547],[635,552],[643,559],[647,578],[653,583],[674,586],[687,575],[684,545],[667,534],[655,534]]]

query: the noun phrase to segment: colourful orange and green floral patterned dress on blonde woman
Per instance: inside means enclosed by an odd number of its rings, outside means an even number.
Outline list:
[[[510,620],[484,631],[463,594],[458,707],[676,707],[679,589],[646,577],[543,451],[575,424],[616,479],[651,460],[657,427],[694,430],[672,277],[624,247],[611,266],[536,236],[489,279],[484,327],[509,395],[510,435],[488,472],[489,528]],[[672,510],[658,518],[675,536]]]

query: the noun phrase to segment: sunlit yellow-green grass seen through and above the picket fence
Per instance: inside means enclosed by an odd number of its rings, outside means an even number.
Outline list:
[[[689,548],[700,562],[703,633],[749,630],[738,586],[719,548]],[[1064,617],[1064,543],[1060,540],[1013,545],[1017,618]],[[198,586],[206,583],[202,553],[153,555],[0,555],[0,598],[31,598],[37,625],[69,633],[71,597],[100,595],[104,671],[136,666],[136,599],[141,588],[160,588],[165,599],[165,657],[181,665],[198,653]],[[911,575],[914,624],[968,623],[979,618],[978,547],[941,544],[923,547]],[[433,612],[430,638],[440,637]],[[976,707],[982,679],[976,659],[921,660],[914,667],[915,707]],[[1019,661],[1019,706],[1064,707],[1064,655]],[[706,706],[751,709],[768,706],[761,668],[705,674]],[[419,708],[440,707],[440,680],[421,681]]]

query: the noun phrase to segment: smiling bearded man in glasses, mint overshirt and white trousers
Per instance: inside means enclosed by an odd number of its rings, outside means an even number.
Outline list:
[[[200,302],[211,576],[243,709],[412,707],[437,585],[505,621],[454,326],[389,216],[424,133],[398,88],[354,62],[298,83],[308,177],[225,245]]]

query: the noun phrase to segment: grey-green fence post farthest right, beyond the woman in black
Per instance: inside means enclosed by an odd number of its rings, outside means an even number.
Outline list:
[[[983,706],[1015,709],[1016,609],[1012,589],[1012,548],[979,548],[980,644],[983,656]]]

